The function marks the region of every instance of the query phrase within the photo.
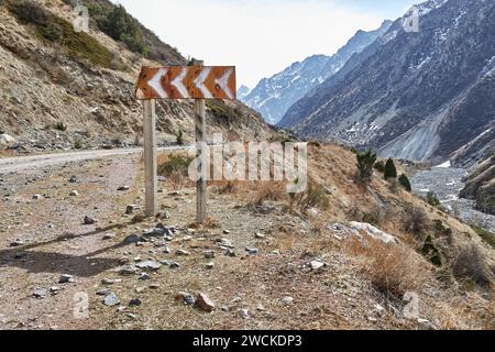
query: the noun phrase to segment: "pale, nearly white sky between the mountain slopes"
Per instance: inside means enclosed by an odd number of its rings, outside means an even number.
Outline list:
[[[207,66],[237,66],[251,89],[292,63],[334,54],[358,30],[374,30],[421,0],[112,0]]]

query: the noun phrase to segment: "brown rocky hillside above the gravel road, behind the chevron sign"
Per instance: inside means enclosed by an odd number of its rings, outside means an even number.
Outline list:
[[[139,142],[142,108],[133,90],[141,65],[184,65],[186,59],[145,29],[152,59],[92,22],[89,35],[78,35],[72,26],[76,14],[66,2],[34,1],[56,19],[55,28],[26,23],[8,9],[11,1],[1,2],[0,132],[16,140],[10,147],[25,153]],[[55,40],[46,29],[63,31],[70,41]],[[191,102],[160,101],[157,118],[160,143],[175,141],[179,130],[191,140]],[[258,113],[240,102],[208,103],[207,124],[209,133],[229,138],[272,134]]]

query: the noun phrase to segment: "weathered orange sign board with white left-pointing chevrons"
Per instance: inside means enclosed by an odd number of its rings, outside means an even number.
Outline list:
[[[235,67],[143,67],[138,99],[235,99]]]

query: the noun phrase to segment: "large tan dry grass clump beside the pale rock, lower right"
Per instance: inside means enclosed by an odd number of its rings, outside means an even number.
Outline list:
[[[410,249],[371,240],[363,244],[350,239],[348,251],[365,258],[363,272],[372,285],[391,298],[402,298],[406,292],[419,292],[430,276],[428,265]]]

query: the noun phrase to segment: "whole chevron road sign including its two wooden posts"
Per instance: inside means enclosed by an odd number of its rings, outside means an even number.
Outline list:
[[[235,100],[235,67],[202,66],[199,61],[195,62],[195,66],[143,67],[135,94],[138,99],[144,100],[145,213],[153,217],[158,208],[155,99],[195,99],[196,142],[204,145],[205,99]],[[197,156],[201,155],[201,147],[197,153]],[[204,222],[207,215],[207,180],[204,173],[200,173],[196,187],[196,220]]]

